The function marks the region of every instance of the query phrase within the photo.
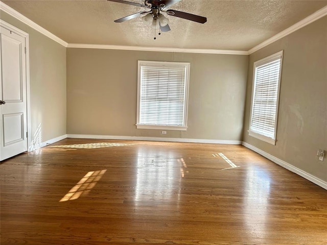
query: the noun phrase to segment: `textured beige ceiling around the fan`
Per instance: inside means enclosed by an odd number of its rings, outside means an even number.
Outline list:
[[[144,3],[142,0],[128,0]],[[2,1],[68,43],[248,51],[327,5],[327,1],[181,0],[170,9],[207,17],[197,22],[168,16],[170,32],[157,35],[141,17],[147,10],[94,1]]]

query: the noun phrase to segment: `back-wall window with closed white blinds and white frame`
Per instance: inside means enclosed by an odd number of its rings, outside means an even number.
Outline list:
[[[138,61],[137,129],[185,131],[190,63]]]

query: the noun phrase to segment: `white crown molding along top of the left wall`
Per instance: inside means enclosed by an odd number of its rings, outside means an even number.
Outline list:
[[[6,12],[7,14],[13,16],[14,18],[18,19],[19,21],[27,24],[29,27],[35,29],[36,31],[40,32],[46,37],[51,38],[52,40],[58,42],[59,44],[63,45],[64,47],[67,47],[68,43],[65,42],[64,40],[60,39],[56,35],[52,34],[48,30],[45,30],[43,27],[39,26],[37,23],[34,21],[30,20],[26,16],[22,15],[21,13],[17,12],[13,8],[9,7],[8,5],[4,4],[3,2],[0,1],[0,10]]]

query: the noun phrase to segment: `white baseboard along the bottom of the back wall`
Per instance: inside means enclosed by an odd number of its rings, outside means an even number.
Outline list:
[[[111,135],[85,135],[67,134],[67,138],[79,139],[117,139],[117,140],[146,140],[146,141],[169,141],[189,143],[212,143],[212,144],[241,144],[241,140],[216,140],[216,139],[182,139],[182,138],[160,138],[160,137],[139,137],[139,136],[111,136]]]

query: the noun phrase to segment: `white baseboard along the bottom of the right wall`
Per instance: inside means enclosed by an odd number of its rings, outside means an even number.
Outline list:
[[[263,151],[263,150],[260,150],[259,148],[256,148],[255,146],[249,144],[249,143],[246,143],[246,142],[242,142],[242,145],[244,145],[246,148],[256,152],[256,153],[259,153],[260,155],[264,156],[265,158],[268,158],[269,160],[273,161],[274,163],[290,170],[291,172],[311,181],[312,183],[315,183],[316,185],[319,185],[320,187],[324,188],[327,190],[327,182],[324,181],[324,180],[321,180],[309,173],[307,173],[306,171],[303,171],[273,155],[270,155],[269,153]]]

